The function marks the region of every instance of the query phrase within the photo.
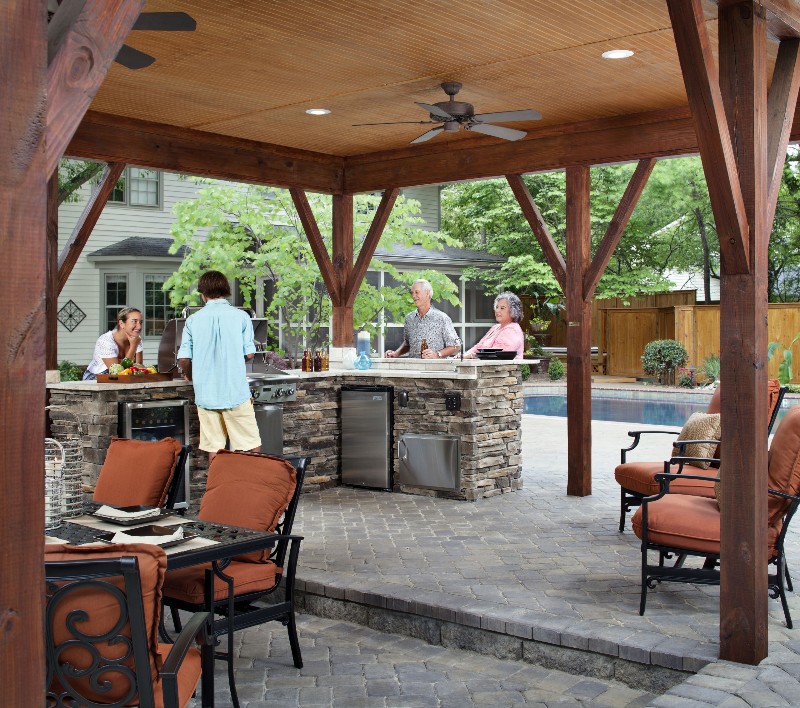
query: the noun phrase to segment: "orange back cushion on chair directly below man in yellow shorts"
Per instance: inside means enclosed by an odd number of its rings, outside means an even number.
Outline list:
[[[246,529],[273,531],[289,506],[297,483],[294,467],[280,458],[219,450],[208,470],[198,518]],[[270,549],[238,556],[266,563]]]

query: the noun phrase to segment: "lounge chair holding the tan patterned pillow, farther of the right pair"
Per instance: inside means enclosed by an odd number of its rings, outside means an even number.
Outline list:
[[[777,381],[773,382],[773,385],[777,385]],[[777,390],[776,400],[774,402],[774,406],[770,411],[770,420],[767,426],[767,434],[769,435],[772,432],[772,428],[775,422],[778,420],[778,414],[781,410],[781,404],[783,402],[783,397],[788,392],[788,386],[780,386]],[[712,397],[712,402],[710,402],[708,406],[708,412],[714,413],[718,412],[719,406],[719,395],[720,390],[717,389],[714,391],[714,397]],[[697,443],[709,443],[714,442],[717,445],[721,445],[718,440],[681,440],[674,442],[674,446],[678,448],[678,455],[674,456],[672,460],[672,464],[677,465],[677,469],[671,470],[669,465],[665,466],[664,462],[634,462],[629,463],[627,462],[626,455],[631,451],[634,450],[636,446],[638,446],[639,442],[641,442],[642,435],[674,435],[678,436],[680,434],[680,430],[629,430],[628,435],[631,438],[634,438],[634,442],[629,447],[623,447],[619,451],[619,466],[614,470],[614,478],[617,479],[619,484],[619,494],[620,494],[620,501],[619,501],[619,530],[625,529],[625,517],[626,514],[634,507],[639,506],[642,503],[642,499],[648,496],[652,496],[653,494],[658,494],[658,484],[655,482],[655,475],[656,474],[663,474],[664,472],[670,474],[682,474],[684,465],[686,462],[689,461],[689,458],[684,457],[684,453],[686,451],[686,446],[693,445]],[[719,449],[719,448],[718,448]],[[704,459],[703,462],[709,462],[708,460]],[[713,458],[710,461],[710,466],[714,467],[715,469],[719,468],[719,459]],[[631,475],[628,470],[633,468],[635,470],[634,474]],[[634,479],[634,477],[639,477],[639,479]],[[702,476],[696,478],[696,475],[685,475],[680,478],[679,482],[682,483],[682,494],[693,494],[696,493],[700,496],[713,496],[713,490],[709,489],[709,486],[706,482],[706,479]],[[630,481],[626,481],[630,478]],[[633,489],[632,487],[638,485],[638,489]],[[690,489],[690,487],[694,487],[694,489]],[[674,493],[674,492],[673,492]]]

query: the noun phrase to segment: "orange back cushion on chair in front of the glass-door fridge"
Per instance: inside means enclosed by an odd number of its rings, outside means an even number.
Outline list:
[[[94,501],[119,506],[162,506],[175,474],[181,443],[174,438],[157,442],[111,438]]]

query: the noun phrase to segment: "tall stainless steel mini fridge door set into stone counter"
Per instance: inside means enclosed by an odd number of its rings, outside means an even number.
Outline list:
[[[393,390],[342,386],[342,484],[392,486]]]

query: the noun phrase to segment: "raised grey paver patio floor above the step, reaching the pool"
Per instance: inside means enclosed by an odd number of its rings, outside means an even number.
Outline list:
[[[630,515],[618,531],[614,466],[630,442],[626,431],[647,427],[593,422],[593,494],[585,498],[565,493],[566,418],[530,415],[522,423],[522,491],[478,502],[349,487],[304,495],[294,523],[305,537],[298,578],[381,582],[428,591],[427,598],[433,592],[484,608],[648,630],[683,638],[687,647],[716,643],[717,587],[662,583],[648,591],[644,617],[638,614],[639,541]],[[629,459],[669,452],[662,436],[644,436]],[[797,523],[786,548],[800,578]],[[800,621],[798,594],[789,603]],[[791,639],[800,630],[787,630],[780,603],[770,600],[770,641]]]

